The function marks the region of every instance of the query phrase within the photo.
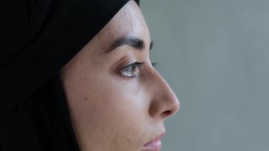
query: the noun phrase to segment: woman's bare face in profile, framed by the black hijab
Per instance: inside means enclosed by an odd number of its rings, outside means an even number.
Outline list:
[[[147,24],[129,1],[63,68],[81,150],[160,150],[164,121],[179,102],[152,67],[149,47]]]

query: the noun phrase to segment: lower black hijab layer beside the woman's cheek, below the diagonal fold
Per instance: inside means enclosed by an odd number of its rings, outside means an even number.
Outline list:
[[[79,150],[59,76],[0,118],[4,150]]]

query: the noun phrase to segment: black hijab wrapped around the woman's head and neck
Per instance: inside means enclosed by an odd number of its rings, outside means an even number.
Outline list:
[[[59,70],[127,1],[0,1],[0,151],[79,150]]]

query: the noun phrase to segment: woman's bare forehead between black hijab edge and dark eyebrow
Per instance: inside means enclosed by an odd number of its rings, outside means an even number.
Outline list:
[[[97,41],[103,47],[110,45],[114,40],[124,36],[137,37],[150,43],[147,23],[135,1],[129,1],[98,33]]]

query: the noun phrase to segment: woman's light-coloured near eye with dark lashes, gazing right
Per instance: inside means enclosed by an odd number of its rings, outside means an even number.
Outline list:
[[[139,67],[142,67],[143,64],[144,64],[144,62],[134,62],[130,65],[122,67],[120,69],[120,74],[123,77],[127,77],[127,78],[136,77]]]

